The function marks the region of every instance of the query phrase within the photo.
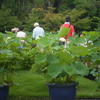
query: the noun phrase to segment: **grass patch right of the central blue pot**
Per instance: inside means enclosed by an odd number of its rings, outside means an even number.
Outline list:
[[[99,83],[83,77],[78,77],[77,97],[100,97]]]

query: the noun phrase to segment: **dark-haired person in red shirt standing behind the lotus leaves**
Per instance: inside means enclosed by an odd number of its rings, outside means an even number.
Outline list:
[[[70,24],[71,18],[70,17],[66,17],[66,22],[61,25],[61,27],[66,27],[66,28],[70,28],[68,34],[64,37],[66,39],[66,41],[68,40],[68,37],[74,37],[74,33],[75,33],[75,29],[74,26]]]

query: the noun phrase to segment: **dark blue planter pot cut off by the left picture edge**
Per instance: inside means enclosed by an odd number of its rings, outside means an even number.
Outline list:
[[[9,94],[9,86],[0,86],[0,100],[7,100]]]

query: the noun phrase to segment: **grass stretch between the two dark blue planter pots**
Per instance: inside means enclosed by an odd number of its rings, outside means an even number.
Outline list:
[[[11,96],[48,96],[45,80],[40,75],[19,71],[14,76],[14,82],[18,85],[11,86]]]

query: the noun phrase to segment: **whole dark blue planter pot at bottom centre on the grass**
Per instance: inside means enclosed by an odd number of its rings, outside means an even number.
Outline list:
[[[78,83],[69,85],[46,84],[49,88],[51,100],[74,100]]]

